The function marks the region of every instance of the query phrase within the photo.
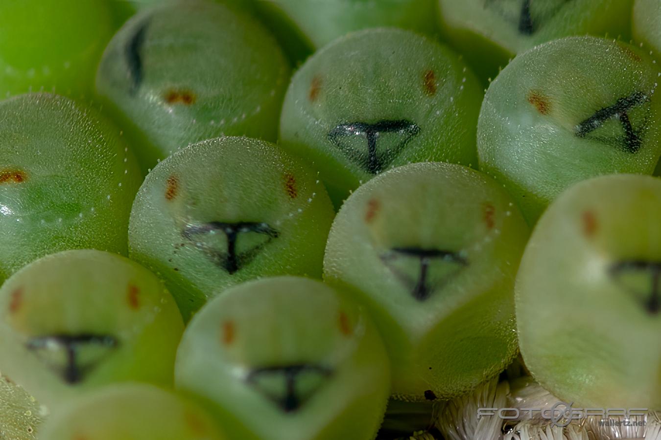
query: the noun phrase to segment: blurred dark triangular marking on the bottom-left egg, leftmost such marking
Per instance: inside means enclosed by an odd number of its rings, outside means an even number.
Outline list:
[[[28,350],[35,352],[42,361],[48,363],[65,382],[70,384],[83,380],[100,359],[117,345],[116,338],[105,334],[50,334],[30,338],[26,344]],[[92,358],[87,356],[85,361],[81,361],[83,348],[99,350],[94,353]]]

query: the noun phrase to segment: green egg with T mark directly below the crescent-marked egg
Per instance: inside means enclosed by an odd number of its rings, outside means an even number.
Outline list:
[[[186,319],[239,282],[321,278],[334,212],[317,176],[274,144],[194,144],[145,179],[130,222],[131,257],[167,280]]]

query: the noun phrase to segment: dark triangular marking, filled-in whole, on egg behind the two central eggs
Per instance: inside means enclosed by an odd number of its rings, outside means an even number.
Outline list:
[[[379,138],[391,133],[399,137],[391,146],[379,150]],[[328,134],[333,142],[350,160],[369,173],[380,173],[397,157],[406,144],[420,133],[420,127],[412,122],[384,120],[377,123],[354,122],[340,124]],[[354,139],[362,139],[362,146],[354,145]],[[381,141],[383,143],[383,141]],[[366,144],[366,148],[365,148]]]

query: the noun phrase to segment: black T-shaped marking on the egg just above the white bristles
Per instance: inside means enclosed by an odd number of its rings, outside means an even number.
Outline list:
[[[445,261],[451,261],[452,263],[457,263],[462,266],[467,266],[468,261],[464,257],[461,257],[456,252],[452,251],[444,251],[442,249],[422,249],[420,247],[393,247],[391,249],[392,253],[388,253],[385,255],[381,255],[381,261],[385,263],[385,265],[388,265],[388,261],[391,261],[393,258],[396,258],[395,255],[397,256],[404,256],[404,257],[415,257],[420,260],[420,272],[418,274],[418,280],[415,282],[412,290],[411,290],[411,296],[418,301],[424,301],[425,299],[429,298],[434,290],[431,286],[428,285],[427,278],[428,278],[428,271],[429,271],[429,265],[432,263],[434,260],[445,260]],[[395,255],[393,255],[393,253]],[[399,270],[395,270],[395,268],[389,266],[391,271],[398,277],[400,278],[401,281],[405,282],[405,284],[412,284],[410,281],[410,278],[406,275],[403,274]]]

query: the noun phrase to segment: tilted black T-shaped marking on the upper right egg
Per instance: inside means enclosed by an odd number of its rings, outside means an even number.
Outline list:
[[[586,137],[586,135],[601,127],[609,119],[615,118],[620,121],[624,129],[625,144],[623,149],[626,152],[635,153],[641,148],[642,139],[634,131],[627,111],[635,106],[640,106],[648,100],[649,98],[642,92],[633,92],[633,94],[625,98],[619,98],[612,106],[597,110],[594,115],[576,125],[576,136]]]

